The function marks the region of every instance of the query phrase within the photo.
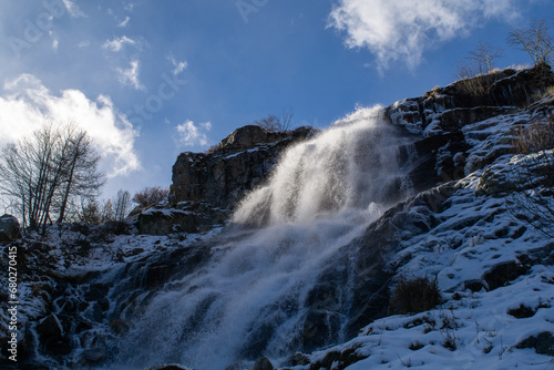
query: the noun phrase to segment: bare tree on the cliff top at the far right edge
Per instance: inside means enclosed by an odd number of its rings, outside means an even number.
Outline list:
[[[534,65],[552,65],[554,39],[548,32],[550,27],[545,20],[535,19],[529,29],[513,29],[507,37],[507,43],[525,51]]]

